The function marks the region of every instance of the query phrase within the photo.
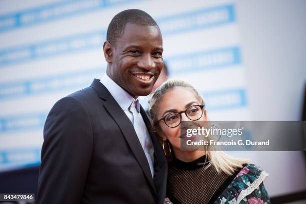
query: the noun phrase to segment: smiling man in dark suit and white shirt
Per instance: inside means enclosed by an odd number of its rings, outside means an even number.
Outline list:
[[[137,9],[113,17],[101,81],[55,103],[43,130],[38,204],[161,204],[167,165],[138,96],[162,67],[162,37]]]

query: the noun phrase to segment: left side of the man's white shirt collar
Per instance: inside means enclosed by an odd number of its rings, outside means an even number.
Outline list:
[[[122,110],[127,110],[134,101],[134,98],[107,76],[106,73],[103,75],[100,82],[107,88]]]

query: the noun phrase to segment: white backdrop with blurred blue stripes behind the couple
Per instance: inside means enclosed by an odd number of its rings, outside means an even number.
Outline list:
[[[0,171],[40,163],[48,111],[102,77],[106,29],[124,9],[156,20],[169,77],[202,93],[210,120],[251,120],[233,0],[2,0],[0,7]]]

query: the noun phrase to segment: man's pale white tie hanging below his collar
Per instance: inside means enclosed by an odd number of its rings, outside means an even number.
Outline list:
[[[130,112],[133,115],[132,124],[139,139],[139,142],[144,151],[145,157],[150,167],[151,175],[154,175],[153,161],[154,161],[154,147],[146,129],[145,123],[140,112],[140,105],[138,99],[134,100],[130,105]]]

